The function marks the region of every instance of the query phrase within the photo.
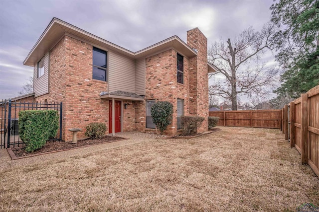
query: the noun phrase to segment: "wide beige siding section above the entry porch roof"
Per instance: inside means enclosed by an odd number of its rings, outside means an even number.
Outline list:
[[[135,93],[135,61],[109,51],[109,92]]]

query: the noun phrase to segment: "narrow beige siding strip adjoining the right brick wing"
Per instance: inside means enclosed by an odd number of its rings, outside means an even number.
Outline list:
[[[145,95],[145,59],[136,61],[135,65],[135,92]]]

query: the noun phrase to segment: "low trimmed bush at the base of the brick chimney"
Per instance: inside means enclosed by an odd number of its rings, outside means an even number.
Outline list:
[[[182,136],[190,136],[197,134],[197,128],[205,120],[204,117],[200,116],[181,116],[180,126],[183,131]]]

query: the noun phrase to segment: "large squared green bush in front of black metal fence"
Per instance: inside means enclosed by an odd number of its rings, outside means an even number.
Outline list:
[[[51,138],[59,129],[56,110],[25,110],[19,112],[19,136],[26,144],[26,151],[34,151]]]

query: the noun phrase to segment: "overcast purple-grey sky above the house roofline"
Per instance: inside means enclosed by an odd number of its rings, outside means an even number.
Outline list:
[[[0,99],[18,96],[32,67],[22,62],[53,17],[133,52],[198,27],[214,41],[259,30],[273,0],[0,0]],[[269,56],[269,61],[273,59]]]

